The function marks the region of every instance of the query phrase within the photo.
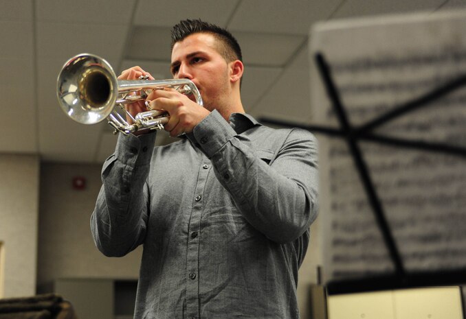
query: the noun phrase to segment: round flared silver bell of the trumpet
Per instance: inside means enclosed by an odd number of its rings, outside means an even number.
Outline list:
[[[58,75],[57,97],[71,119],[84,124],[103,121],[112,112],[118,97],[115,72],[98,56],[74,56]]]

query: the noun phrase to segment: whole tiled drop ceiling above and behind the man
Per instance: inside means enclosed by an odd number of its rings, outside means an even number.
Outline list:
[[[297,43],[307,37],[315,21],[456,10],[465,8],[466,3],[464,0],[0,0],[0,5],[0,71],[8,79],[8,82],[0,80],[4,123],[0,133],[5,132],[0,138],[0,152],[38,152],[49,161],[99,162],[102,154],[108,153],[102,146],[107,141],[104,136],[109,132],[107,125],[74,123],[61,113],[56,102],[56,75],[65,60],[75,54],[82,51],[99,54],[118,72],[133,61],[140,61],[147,64],[149,71],[169,78],[169,27],[186,17],[200,17],[228,27],[240,40],[246,65],[242,94],[248,112],[307,121],[312,117],[309,100],[306,101],[309,67],[303,64],[302,56],[306,54],[297,51],[300,49]],[[128,36],[135,31],[141,34]],[[129,43],[133,50],[148,54],[126,51]],[[21,132],[11,134],[18,131],[16,115],[9,107],[18,104],[17,95],[21,95],[25,112],[21,121],[25,124]],[[35,103],[38,112],[34,111]],[[30,138],[37,135],[36,127],[40,145]],[[112,141],[113,137],[108,138]]]

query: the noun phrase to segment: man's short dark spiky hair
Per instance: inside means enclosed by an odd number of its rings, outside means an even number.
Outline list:
[[[208,33],[212,34],[217,40],[220,40],[221,45],[219,46],[219,53],[227,62],[234,60],[243,61],[241,54],[241,47],[238,41],[230,32],[222,27],[201,21],[200,19],[195,20],[181,20],[179,23],[174,25],[171,30],[172,43],[170,49],[173,50],[175,43],[184,40],[187,36],[195,33]]]

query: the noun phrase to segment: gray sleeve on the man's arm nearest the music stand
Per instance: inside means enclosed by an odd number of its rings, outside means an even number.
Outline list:
[[[282,143],[268,165],[216,111],[193,131],[245,219],[279,243],[298,239],[318,211],[317,141],[307,130],[284,134],[270,137]]]

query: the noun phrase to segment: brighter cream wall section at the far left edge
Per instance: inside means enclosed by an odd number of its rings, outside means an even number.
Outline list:
[[[3,297],[30,296],[36,292],[38,157],[0,154],[0,172]]]

